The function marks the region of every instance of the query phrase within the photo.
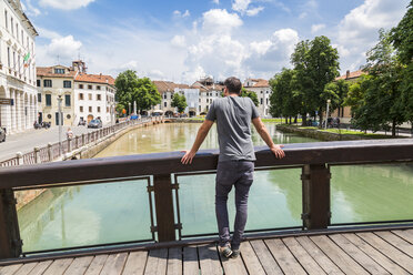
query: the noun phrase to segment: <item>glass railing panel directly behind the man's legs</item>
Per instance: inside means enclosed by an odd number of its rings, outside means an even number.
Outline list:
[[[302,226],[301,169],[255,171],[249,196],[246,231]],[[215,174],[180,175],[182,236],[215,234]],[[229,202],[230,228],[235,216],[234,191]]]

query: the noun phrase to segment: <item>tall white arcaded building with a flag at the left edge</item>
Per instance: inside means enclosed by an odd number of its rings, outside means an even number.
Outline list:
[[[38,118],[38,32],[19,0],[0,1],[0,126],[10,134],[32,129]]]

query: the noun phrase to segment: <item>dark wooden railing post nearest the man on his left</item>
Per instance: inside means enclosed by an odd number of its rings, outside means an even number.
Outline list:
[[[175,222],[170,174],[154,175],[153,189],[157,211],[157,231],[159,242],[175,241]]]

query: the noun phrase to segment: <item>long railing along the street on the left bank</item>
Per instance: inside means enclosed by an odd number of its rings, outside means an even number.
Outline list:
[[[47,146],[43,146],[43,147],[34,147],[33,151],[26,153],[26,154],[17,153],[14,157],[0,162],[0,167],[52,162],[67,153],[70,153],[84,145],[93,143],[102,138],[105,138],[128,126],[143,124],[143,123],[159,121],[159,120],[162,120],[162,118],[153,116],[153,118],[144,118],[144,119],[139,119],[139,120],[125,121],[125,122],[118,123],[115,125],[99,129],[93,132],[89,132],[89,133],[81,134],[81,135],[75,135],[71,140],[64,140],[61,146],[59,142],[53,143],[53,144],[49,143]]]

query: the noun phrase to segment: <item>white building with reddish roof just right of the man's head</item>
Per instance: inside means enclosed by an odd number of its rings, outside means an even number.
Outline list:
[[[244,82],[248,91],[256,93],[259,105],[258,110],[261,118],[272,118],[270,114],[270,96],[272,93],[270,83],[264,79],[248,79]]]

